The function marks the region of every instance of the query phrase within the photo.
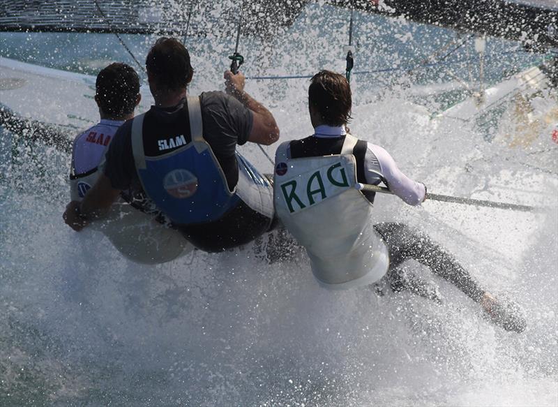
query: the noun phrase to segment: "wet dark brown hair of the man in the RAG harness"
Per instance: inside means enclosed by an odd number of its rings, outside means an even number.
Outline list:
[[[352,119],[351,87],[339,73],[319,71],[314,75],[308,87],[308,102],[329,126],[342,126]]]

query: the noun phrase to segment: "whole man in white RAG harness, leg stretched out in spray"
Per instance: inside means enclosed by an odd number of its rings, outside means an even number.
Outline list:
[[[276,214],[306,248],[312,272],[322,286],[347,289],[384,281],[393,290],[409,288],[439,299],[439,294],[406,273],[414,258],[458,286],[506,330],[522,332],[525,320],[513,304],[483,290],[450,253],[423,232],[400,223],[372,224],[374,193],[357,183],[380,184],[409,205],[421,205],[426,187],[403,174],[382,147],[347,133],[352,96],[344,76],[321,71],[308,89],[315,133],[283,142],[276,152]]]

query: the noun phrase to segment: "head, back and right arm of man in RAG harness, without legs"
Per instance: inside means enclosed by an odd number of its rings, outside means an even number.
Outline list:
[[[324,286],[374,283],[386,274],[389,256],[372,223],[375,196],[356,184],[386,182],[386,170],[390,186],[409,203],[421,202],[424,190],[402,175],[381,147],[348,134],[352,98],[345,77],[317,73],[310,81],[308,103],[315,133],[283,143],[276,153],[278,218],[305,246],[312,272]]]

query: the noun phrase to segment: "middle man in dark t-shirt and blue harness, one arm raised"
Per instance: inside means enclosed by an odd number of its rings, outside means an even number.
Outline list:
[[[66,223],[82,229],[121,191],[144,210],[160,211],[188,242],[208,252],[250,242],[271,226],[271,183],[237,151],[279,138],[269,110],[244,91],[244,77],[225,72],[227,93],[187,97],[193,77],[188,50],[160,38],[146,57],[155,105],[114,135],[105,170],[81,202],[70,202]]]

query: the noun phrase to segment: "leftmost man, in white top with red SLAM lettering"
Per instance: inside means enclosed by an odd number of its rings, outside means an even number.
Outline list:
[[[114,134],[140,103],[140,78],[126,64],[114,63],[103,68],[96,79],[95,101],[100,121],[77,135],[72,147],[70,168],[71,200],[81,202],[102,172]],[[126,195],[123,195],[126,197]],[[120,198],[103,222],[93,223],[123,256],[143,264],[162,263],[193,249],[179,232],[145,214]]]

